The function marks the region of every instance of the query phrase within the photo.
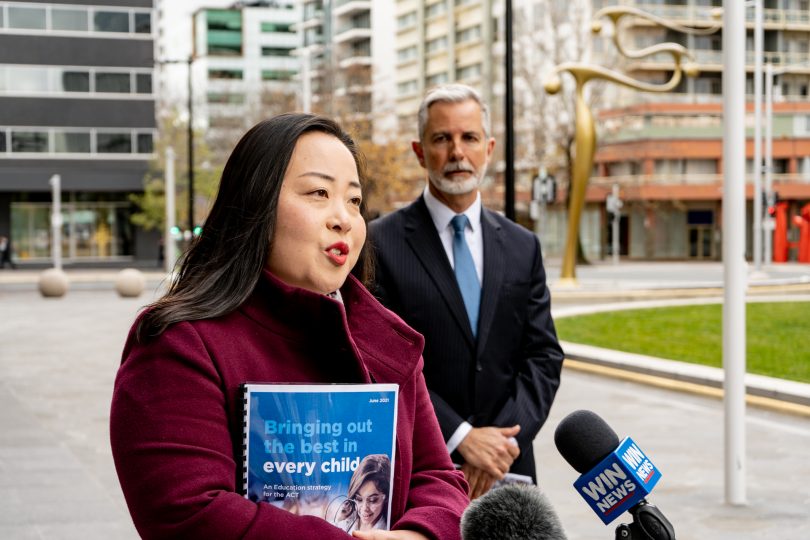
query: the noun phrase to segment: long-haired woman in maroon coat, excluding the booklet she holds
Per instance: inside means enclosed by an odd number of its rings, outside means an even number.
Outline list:
[[[319,517],[238,492],[244,382],[399,385],[391,531],[457,539],[466,484],[422,376],[422,336],[350,275],[361,251],[359,153],[334,122],[287,114],[237,144],[169,292],[133,326],[110,436],[144,538],[340,539]]]

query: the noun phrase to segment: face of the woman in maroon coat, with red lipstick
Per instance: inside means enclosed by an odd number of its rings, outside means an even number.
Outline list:
[[[361,200],[349,149],[326,133],[302,135],[281,185],[268,270],[302,289],[340,288],[366,240]]]

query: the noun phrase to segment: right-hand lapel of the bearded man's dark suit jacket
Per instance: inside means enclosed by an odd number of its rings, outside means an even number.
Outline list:
[[[492,329],[506,264],[501,226],[486,208],[481,209],[481,232],[484,238],[484,283],[481,289],[481,310],[478,313],[478,354],[484,350]]]

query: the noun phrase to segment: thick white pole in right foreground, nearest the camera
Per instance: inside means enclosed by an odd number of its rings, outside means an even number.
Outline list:
[[[745,496],[745,5],[723,1],[723,368],[726,503]]]

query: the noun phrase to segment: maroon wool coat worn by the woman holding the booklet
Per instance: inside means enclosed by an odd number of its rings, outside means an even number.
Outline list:
[[[425,387],[424,340],[352,276],[341,293],[343,305],[264,272],[229,315],[178,323],[145,343],[130,331],[110,438],[141,536],[348,538],[325,520],[238,493],[239,385],[373,381],[400,386],[392,528],[459,538],[467,485],[453,468]]]

